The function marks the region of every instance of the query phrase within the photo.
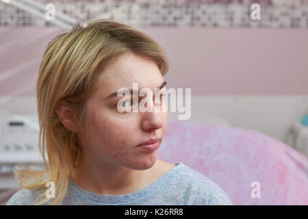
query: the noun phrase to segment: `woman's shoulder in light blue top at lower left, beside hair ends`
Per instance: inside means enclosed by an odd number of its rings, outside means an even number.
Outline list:
[[[44,192],[42,189],[21,188],[15,192],[6,205],[33,205],[37,198]]]

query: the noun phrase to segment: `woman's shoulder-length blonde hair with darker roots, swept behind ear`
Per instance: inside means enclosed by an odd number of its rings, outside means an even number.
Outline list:
[[[55,183],[55,198],[51,201],[42,192],[35,205],[61,203],[68,179],[75,179],[81,152],[77,133],[66,129],[55,112],[57,102],[67,101],[79,112],[78,124],[84,124],[87,97],[96,88],[99,72],[127,51],[153,60],[162,75],[168,71],[166,53],[155,40],[133,27],[105,19],[93,21],[86,27],[77,23],[73,29],[49,42],[40,64],[36,90],[39,148],[45,169],[16,172],[21,188],[44,188],[46,191],[48,181]]]

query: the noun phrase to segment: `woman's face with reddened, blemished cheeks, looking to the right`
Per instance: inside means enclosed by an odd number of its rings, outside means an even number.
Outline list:
[[[162,86],[164,78],[155,62],[136,55],[125,53],[118,59],[110,62],[98,78],[98,88],[88,99],[88,133],[82,133],[83,156],[96,164],[102,164],[110,168],[124,166],[133,170],[145,170],[151,168],[157,159],[157,150],[144,151],[138,147],[146,140],[159,138],[159,146],[166,132],[168,113],[166,111],[152,112],[120,112],[118,101],[123,96],[109,97],[120,88],[133,88],[133,83],[138,83],[138,89],[149,88],[153,92],[151,101],[153,107],[155,88]],[[163,94],[166,87],[159,90]],[[129,96],[127,106],[136,104],[131,102]],[[144,96],[139,97],[139,102]],[[138,102],[138,103],[139,103]],[[137,104],[138,104],[137,103]],[[162,109],[166,105],[162,101]],[[132,109],[133,107],[131,107]],[[83,157],[81,156],[81,157]]]

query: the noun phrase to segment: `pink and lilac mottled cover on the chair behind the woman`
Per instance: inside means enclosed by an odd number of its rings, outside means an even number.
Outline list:
[[[308,205],[307,157],[257,131],[170,118],[157,157],[203,173],[234,205]]]

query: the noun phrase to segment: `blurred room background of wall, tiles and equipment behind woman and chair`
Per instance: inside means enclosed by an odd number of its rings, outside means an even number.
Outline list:
[[[162,44],[167,88],[192,89],[192,122],[259,131],[308,155],[308,0],[0,0],[3,197],[15,164],[42,164],[36,79],[47,44],[97,18]]]

